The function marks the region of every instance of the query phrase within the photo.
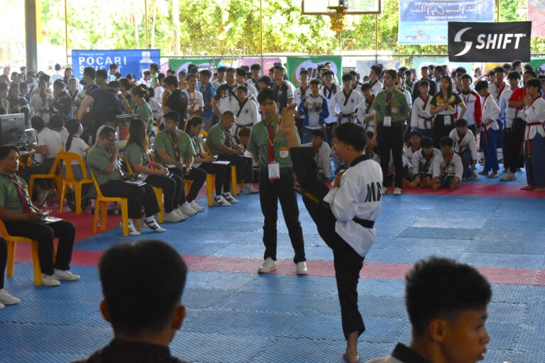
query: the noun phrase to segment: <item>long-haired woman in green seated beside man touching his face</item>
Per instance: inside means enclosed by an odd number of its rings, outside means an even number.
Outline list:
[[[140,88],[140,87],[136,87]],[[128,126],[128,140],[123,157],[131,165],[133,172],[141,174],[143,180],[151,186],[163,189],[165,201],[165,222],[180,222],[188,217],[178,211],[180,194],[184,192],[184,181],[148,156],[149,140],[146,126],[142,120],[133,120]]]

